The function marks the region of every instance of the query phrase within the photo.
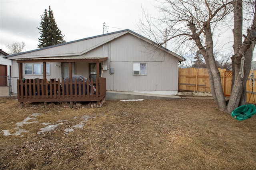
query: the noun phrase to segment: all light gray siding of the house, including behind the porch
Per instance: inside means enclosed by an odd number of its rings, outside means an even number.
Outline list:
[[[174,91],[178,92],[178,58],[172,52],[156,49],[144,39],[128,32],[78,40],[64,45],[32,51],[11,57],[11,59],[36,57],[108,57],[102,77],[106,78],[106,90],[113,91]],[[175,55],[175,54],[174,54]],[[15,61],[13,60],[15,63]],[[146,63],[146,75],[133,75],[133,63]],[[61,67],[51,63],[51,75],[47,78],[61,78]],[[75,63],[75,74],[88,77],[87,62]],[[14,69],[18,65],[14,64]],[[109,68],[114,68],[110,74]],[[14,70],[18,76],[18,70]],[[100,73],[101,74],[101,73]],[[34,78],[24,76],[24,78]],[[40,78],[40,77],[38,77]]]

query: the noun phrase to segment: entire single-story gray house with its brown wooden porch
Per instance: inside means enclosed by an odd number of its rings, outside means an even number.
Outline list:
[[[13,74],[19,77],[20,102],[99,102],[106,90],[177,94],[178,63],[184,61],[129,29],[10,55],[8,59],[12,60]],[[89,78],[96,94],[82,94],[86,88],[90,91],[89,83],[65,82],[65,77],[74,74]],[[78,83],[81,88],[76,88]],[[38,88],[40,94],[36,93]]]

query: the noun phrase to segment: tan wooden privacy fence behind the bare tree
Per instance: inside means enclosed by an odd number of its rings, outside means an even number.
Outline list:
[[[226,69],[219,69],[222,89],[225,96],[231,94],[231,81],[232,71],[226,71]],[[250,71],[251,73],[251,71]],[[254,70],[256,75],[256,70]],[[206,68],[179,68],[179,90],[196,91],[196,92],[211,92],[209,75]],[[247,102],[254,104],[254,98],[256,98],[256,86],[253,88],[250,86],[250,77],[246,82]],[[250,98],[251,96],[251,98]],[[254,97],[254,98],[253,98]],[[249,101],[250,98],[250,101]]]

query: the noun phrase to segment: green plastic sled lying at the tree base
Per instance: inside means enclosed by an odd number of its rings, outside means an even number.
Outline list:
[[[242,121],[252,117],[252,115],[256,114],[256,107],[254,104],[242,105],[234,109],[231,113],[231,116],[234,119]]]

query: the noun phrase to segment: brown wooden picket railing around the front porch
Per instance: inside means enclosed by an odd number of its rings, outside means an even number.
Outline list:
[[[102,77],[96,82],[91,79],[91,85],[76,79],[18,79],[17,85],[19,102],[100,102],[106,96],[106,78]]]

